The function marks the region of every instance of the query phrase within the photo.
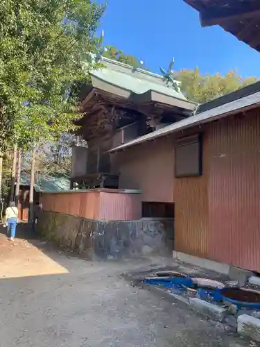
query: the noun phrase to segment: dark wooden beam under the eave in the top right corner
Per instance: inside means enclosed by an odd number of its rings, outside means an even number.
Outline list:
[[[212,7],[200,11],[201,26],[212,26],[232,20],[260,18],[260,3],[247,1],[237,7]]]

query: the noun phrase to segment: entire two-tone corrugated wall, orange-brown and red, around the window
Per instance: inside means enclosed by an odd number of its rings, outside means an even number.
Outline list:
[[[216,121],[203,176],[175,178],[175,249],[260,272],[260,112]]]

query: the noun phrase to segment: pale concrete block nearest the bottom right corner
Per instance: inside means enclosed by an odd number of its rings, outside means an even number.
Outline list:
[[[239,335],[260,342],[260,319],[241,314],[237,318],[237,332]]]

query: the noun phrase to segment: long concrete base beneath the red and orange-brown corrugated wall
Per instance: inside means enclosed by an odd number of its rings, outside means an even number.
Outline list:
[[[182,262],[188,262],[190,264],[194,264],[208,270],[224,273],[225,275],[228,275],[232,280],[239,281],[240,286],[245,285],[245,282],[247,282],[248,278],[254,275],[252,271],[240,269],[239,267],[220,262],[214,262],[214,260],[195,257],[194,255],[189,255],[182,252],[173,251],[173,259],[177,259]]]

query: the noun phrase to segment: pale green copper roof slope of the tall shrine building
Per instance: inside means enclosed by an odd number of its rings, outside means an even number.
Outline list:
[[[182,92],[176,91],[171,84],[167,85],[163,76],[144,69],[133,68],[130,65],[105,57],[102,58],[101,62],[105,68],[92,71],[93,84],[97,78],[99,81],[128,90],[133,94],[144,94],[152,91],[186,101]]]

